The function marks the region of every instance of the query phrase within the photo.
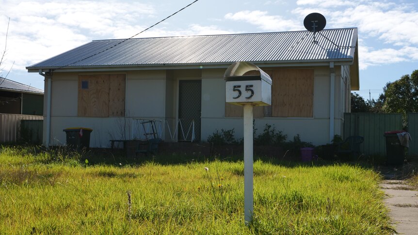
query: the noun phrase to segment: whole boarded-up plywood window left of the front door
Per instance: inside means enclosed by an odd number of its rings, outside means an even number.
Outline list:
[[[88,84],[87,88],[86,84]],[[80,75],[78,115],[81,117],[125,116],[125,75]]]

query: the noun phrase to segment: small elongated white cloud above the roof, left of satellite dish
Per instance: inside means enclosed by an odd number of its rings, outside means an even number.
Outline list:
[[[282,16],[270,16],[268,12],[263,11],[228,13],[225,15],[225,19],[245,21],[267,31],[294,31],[303,29],[303,26],[301,27],[299,22],[285,19]]]

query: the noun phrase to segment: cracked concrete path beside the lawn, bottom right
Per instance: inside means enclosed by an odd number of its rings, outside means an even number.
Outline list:
[[[385,180],[381,185],[385,191],[385,204],[390,209],[396,234],[418,234],[418,191],[403,184],[402,180]]]

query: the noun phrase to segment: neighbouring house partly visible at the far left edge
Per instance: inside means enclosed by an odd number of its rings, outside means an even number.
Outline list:
[[[44,91],[0,77],[0,113],[42,116]]]

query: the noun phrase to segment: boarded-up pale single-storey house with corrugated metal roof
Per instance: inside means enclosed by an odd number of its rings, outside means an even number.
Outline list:
[[[95,40],[27,69],[46,78],[48,146],[65,143],[63,129],[73,126],[93,129],[92,147],[142,138],[138,120],[160,120],[166,141],[177,127],[174,140],[186,139],[181,132],[191,120],[196,141],[216,129],[234,128],[242,137],[242,107],[225,104],[224,73],[237,61],[256,64],[273,80],[272,105],[254,109],[258,132],[270,124],[288,138],[324,144],[342,135],[350,92],[359,89],[357,53],[356,28],[315,38],[288,31]]]

